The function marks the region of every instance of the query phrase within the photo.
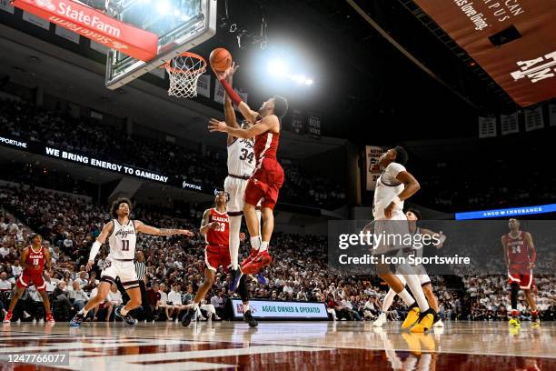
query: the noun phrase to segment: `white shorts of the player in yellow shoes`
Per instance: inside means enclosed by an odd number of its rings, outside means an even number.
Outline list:
[[[403,237],[410,236],[407,217],[402,210],[392,213],[390,219],[375,220],[374,235],[376,246],[373,246],[373,255],[382,255],[410,247],[402,244]],[[382,235],[380,239],[378,239],[379,235]]]

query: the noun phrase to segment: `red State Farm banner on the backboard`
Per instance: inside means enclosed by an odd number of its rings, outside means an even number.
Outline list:
[[[14,0],[13,4],[125,55],[145,62],[157,55],[157,35],[120,22],[94,8],[71,0]]]

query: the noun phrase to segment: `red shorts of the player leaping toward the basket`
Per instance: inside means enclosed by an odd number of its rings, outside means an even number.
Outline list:
[[[283,168],[274,158],[264,158],[245,187],[245,203],[274,209],[283,185]]]

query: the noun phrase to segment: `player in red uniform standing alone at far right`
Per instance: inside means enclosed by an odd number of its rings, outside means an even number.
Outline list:
[[[504,259],[508,266],[508,283],[511,287],[511,326],[521,326],[519,311],[517,310],[518,292],[520,288],[525,292],[525,297],[531,306],[531,321],[533,326],[540,326],[539,313],[535,300],[531,294],[531,287],[534,286],[532,268],[535,266],[537,252],[533,245],[531,233],[521,231],[520,222],[517,219],[508,221],[510,233],[501,236],[501,243],[504,247]]]

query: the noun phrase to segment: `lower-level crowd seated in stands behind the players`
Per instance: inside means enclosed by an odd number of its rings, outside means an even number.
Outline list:
[[[110,219],[108,206],[94,205],[77,196],[37,190],[33,187],[0,187],[0,313],[9,303],[16,277],[21,274],[18,258],[31,230],[44,236],[44,245],[52,251],[54,269],[46,275],[47,290],[54,301],[55,315],[69,318],[90,296],[95,295],[98,274],[107,255],[103,248],[91,272],[85,272],[90,246]],[[11,214],[7,214],[7,212]],[[190,216],[167,216],[153,209],[136,207],[134,218],[162,227],[196,230],[202,210],[192,210]],[[15,217],[19,222],[16,222]],[[146,286],[149,304],[159,320],[174,319],[193,300],[193,294],[204,279],[204,239],[199,234],[183,236],[139,236],[137,249],[144,254]],[[268,286],[249,282],[255,298],[323,301],[330,316],[338,320],[372,320],[380,314],[386,286],[376,276],[346,276],[327,268],[326,238],[277,233],[271,244],[273,265],[265,275]],[[242,246],[243,256],[249,246]],[[240,257],[241,258],[241,257]],[[141,259],[142,260],[142,259]],[[447,319],[505,319],[509,303],[506,276],[463,276],[466,291],[448,285],[447,276],[432,276],[439,296],[440,313]],[[205,315],[223,316],[223,306],[229,296],[229,276],[220,268],[216,283],[205,297],[205,305],[214,307]],[[552,319],[556,313],[556,286],[553,276],[537,277],[541,319]],[[174,291],[174,293],[172,292]],[[176,303],[176,298],[181,301]],[[122,305],[124,297],[114,286],[100,313],[93,319],[110,319],[114,307]],[[40,296],[33,288],[22,299],[21,313],[35,316]],[[524,298],[520,297],[523,316]],[[406,308],[399,298],[388,312],[391,319],[405,316]],[[505,313],[505,315],[504,315]]]

